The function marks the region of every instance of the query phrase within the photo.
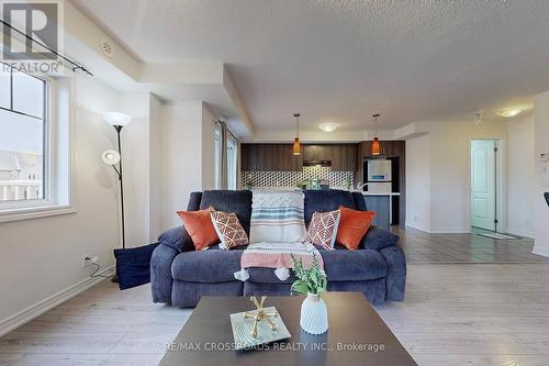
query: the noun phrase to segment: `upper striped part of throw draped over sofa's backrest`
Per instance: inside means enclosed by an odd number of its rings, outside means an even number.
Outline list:
[[[254,192],[250,243],[295,243],[305,239],[303,192]]]

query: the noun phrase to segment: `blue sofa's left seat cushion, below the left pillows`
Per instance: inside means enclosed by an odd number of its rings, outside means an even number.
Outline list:
[[[234,273],[240,270],[242,249],[222,251],[217,245],[206,251],[179,254],[171,265],[173,279],[188,282],[235,281]]]

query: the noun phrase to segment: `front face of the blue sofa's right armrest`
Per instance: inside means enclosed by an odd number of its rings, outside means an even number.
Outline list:
[[[406,258],[400,245],[388,246],[380,251],[385,258],[385,301],[403,301],[406,286]]]

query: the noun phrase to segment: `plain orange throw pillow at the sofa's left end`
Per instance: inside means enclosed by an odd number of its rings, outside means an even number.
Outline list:
[[[220,242],[215,228],[213,228],[210,212],[212,212],[212,208],[200,211],[177,212],[183,221],[184,229],[191,236],[197,251],[202,251]]]

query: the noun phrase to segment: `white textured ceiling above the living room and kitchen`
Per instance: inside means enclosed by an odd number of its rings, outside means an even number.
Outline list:
[[[544,0],[72,2],[145,62],[226,63],[256,129],[295,111],[305,130],[395,127],[549,89]]]

